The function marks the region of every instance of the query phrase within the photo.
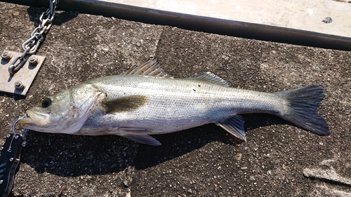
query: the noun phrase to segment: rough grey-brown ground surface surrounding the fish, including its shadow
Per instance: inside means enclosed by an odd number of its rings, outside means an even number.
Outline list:
[[[0,3],[1,50],[20,51],[43,11]],[[321,84],[331,135],[265,114],[244,116],[247,142],[216,125],[155,136],[160,147],[29,131],[13,196],[351,196],[350,52],[59,12],[37,54],[27,97],[0,97],[0,136],[44,97],[150,57],[177,78],[210,71],[251,90]]]

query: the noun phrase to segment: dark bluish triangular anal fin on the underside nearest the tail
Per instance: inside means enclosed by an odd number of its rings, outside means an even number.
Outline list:
[[[220,121],[217,123],[221,128],[227,130],[227,132],[231,133],[235,137],[238,137],[242,140],[245,140],[245,130],[244,130],[245,120],[243,116],[233,116],[231,118],[227,118],[225,121]]]

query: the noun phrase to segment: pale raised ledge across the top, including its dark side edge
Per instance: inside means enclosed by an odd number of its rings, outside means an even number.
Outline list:
[[[3,1],[48,7],[47,0]],[[60,0],[57,9],[246,39],[351,50],[351,4],[346,0]]]

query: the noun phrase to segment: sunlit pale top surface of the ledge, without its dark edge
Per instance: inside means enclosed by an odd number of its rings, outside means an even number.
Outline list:
[[[270,25],[333,36],[351,37],[351,4],[333,0],[61,0],[61,4],[124,7],[166,15],[227,20],[245,25]],[[325,18],[331,21],[325,21]],[[271,27],[272,28],[272,27]]]

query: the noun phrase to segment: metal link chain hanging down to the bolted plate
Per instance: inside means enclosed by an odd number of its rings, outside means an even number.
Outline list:
[[[48,10],[42,13],[39,18],[41,23],[34,29],[30,39],[22,43],[22,55],[16,57],[10,67],[8,67],[8,72],[11,76],[18,72],[23,67],[25,62],[27,62],[27,60],[25,60],[25,55],[32,55],[37,52],[41,41],[44,40],[44,34],[48,33],[48,30],[53,25],[53,17],[55,16],[55,9],[58,1],[59,0],[50,0],[50,6]],[[20,62],[18,62],[18,60],[20,60]],[[16,64],[16,62],[18,62],[18,64]]]

